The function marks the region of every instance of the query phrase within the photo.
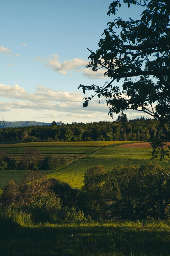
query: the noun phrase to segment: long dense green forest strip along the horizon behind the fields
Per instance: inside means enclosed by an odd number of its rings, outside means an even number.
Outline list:
[[[43,127],[0,128],[0,141],[147,141],[163,135],[158,120],[144,117],[127,121],[119,116],[113,122],[72,122],[61,126],[53,123]]]

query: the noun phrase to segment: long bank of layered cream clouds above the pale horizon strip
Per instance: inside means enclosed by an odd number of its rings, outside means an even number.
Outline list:
[[[36,86],[34,93],[28,93],[19,85],[14,86],[0,84],[0,96],[20,101],[1,102],[0,106],[8,110],[13,109],[31,109],[31,110],[49,110],[57,112],[69,112],[74,114],[101,113],[107,112],[106,104],[99,105],[99,102],[93,101],[89,107],[83,108],[83,96],[80,92],[55,91],[51,88]],[[7,111],[7,110],[6,110]]]

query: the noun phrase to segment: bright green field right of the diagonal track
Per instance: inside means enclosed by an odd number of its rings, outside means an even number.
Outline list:
[[[106,171],[111,171],[117,165],[138,165],[147,163],[151,158],[150,148],[123,148],[105,147],[93,154],[81,158],[78,161],[49,175],[50,178],[58,178],[69,183],[72,187],[81,189],[86,169],[102,164]],[[156,161],[153,161],[156,162]],[[159,162],[166,166],[169,162]]]

